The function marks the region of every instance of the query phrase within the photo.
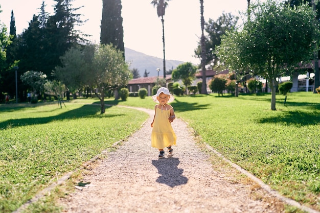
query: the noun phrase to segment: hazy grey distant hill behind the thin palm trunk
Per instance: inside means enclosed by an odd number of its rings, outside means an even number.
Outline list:
[[[130,62],[130,69],[136,68],[139,70],[140,76],[143,77],[145,70],[149,72],[149,77],[157,76],[156,69],[160,69],[159,76],[163,76],[163,58],[148,56],[144,53],[136,52],[134,50],[125,48],[126,61]],[[184,61],[166,60],[166,69],[175,69]]]

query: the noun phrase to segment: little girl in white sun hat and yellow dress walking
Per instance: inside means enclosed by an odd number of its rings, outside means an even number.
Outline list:
[[[164,158],[164,148],[167,147],[169,154],[172,154],[171,145],[176,145],[177,139],[171,126],[171,122],[175,119],[173,107],[167,104],[172,102],[174,97],[170,94],[169,89],[161,87],[152,98],[159,104],[154,106],[151,146],[159,150],[159,158]]]

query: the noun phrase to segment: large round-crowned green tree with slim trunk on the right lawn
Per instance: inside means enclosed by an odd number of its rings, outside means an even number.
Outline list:
[[[227,35],[221,41],[224,54],[237,54],[235,59],[238,59],[225,63],[248,66],[253,75],[267,79],[271,110],[276,110],[277,79],[293,73],[301,61],[310,62],[313,44],[320,36],[318,23],[314,11],[306,5],[292,10],[283,3],[268,1],[251,9],[251,20],[244,24],[243,31]],[[225,41],[231,44],[230,48]]]

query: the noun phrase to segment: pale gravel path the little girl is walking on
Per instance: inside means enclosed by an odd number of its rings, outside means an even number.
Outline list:
[[[284,212],[284,204],[231,167],[217,168],[181,119],[174,155],[158,159],[149,119],[106,159],[85,171],[82,190],[60,200],[63,212]],[[226,172],[226,170],[228,170]],[[231,173],[230,173],[231,172]]]

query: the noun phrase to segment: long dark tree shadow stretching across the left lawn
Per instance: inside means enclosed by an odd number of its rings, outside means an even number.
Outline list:
[[[105,106],[106,109],[110,106]],[[32,117],[25,119],[11,119],[0,123],[0,130],[6,129],[8,127],[15,128],[20,126],[37,125],[37,124],[47,124],[52,121],[62,121],[70,119],[82,119],[84,117],[99,117],[97,114],[100,112],[100,107],[96,105],[84,105],[78,109],[70,110],[59,115],[49,116],[49,117]],[[104,117],[122,116],[121,114],[104,115]]]

